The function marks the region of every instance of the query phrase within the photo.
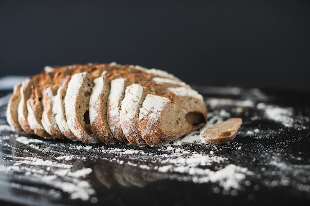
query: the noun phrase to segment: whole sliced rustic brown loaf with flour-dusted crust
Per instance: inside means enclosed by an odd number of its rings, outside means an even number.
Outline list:
[[[202,96],[180,79],[116,63],[49,68],[16,85],[8,106],[17,132],[84,143],[157,146],[207,120]]]

